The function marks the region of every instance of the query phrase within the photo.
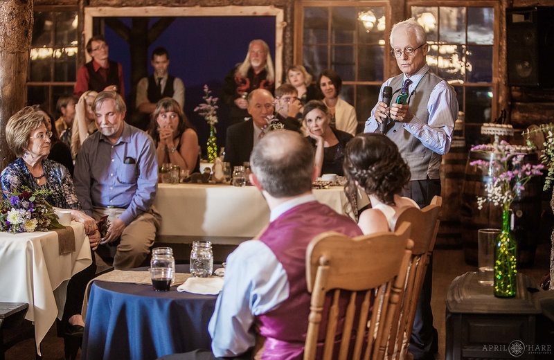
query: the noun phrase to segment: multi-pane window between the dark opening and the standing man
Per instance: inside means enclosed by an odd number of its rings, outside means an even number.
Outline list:
[[[303,1],[301,6],[303,35],[296,46],[296,63],[314,79],[325,69],[337,71],[343,80],[341,98],[355,107],[361,123],[370,116],[386,73],[386,6],[374,1],[341,6]]]

